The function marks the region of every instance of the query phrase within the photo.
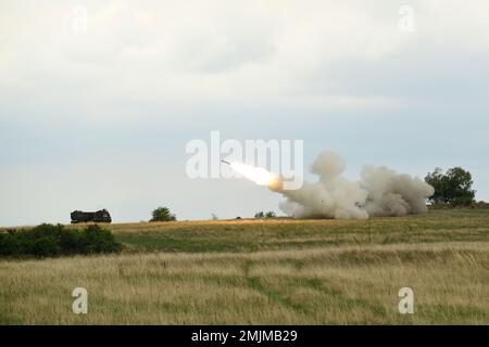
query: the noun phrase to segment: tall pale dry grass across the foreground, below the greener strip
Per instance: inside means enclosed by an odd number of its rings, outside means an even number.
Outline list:
[[[3,260],[0,283],[2,324],[489,324],[488,242]]]

